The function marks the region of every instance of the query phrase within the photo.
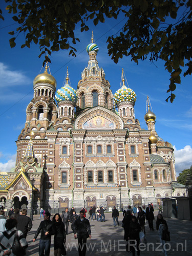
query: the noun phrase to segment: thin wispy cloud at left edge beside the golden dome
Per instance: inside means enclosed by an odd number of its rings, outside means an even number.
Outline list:
[[[10,70],[3,62],[0,62],[1,87],[15,86],[15,84],[29,84],[31,80],[22,71]]]

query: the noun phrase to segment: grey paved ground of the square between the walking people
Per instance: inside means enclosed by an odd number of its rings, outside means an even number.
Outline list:
[[[155,215],[157,215],[157,211],[155,211]],[[122,256],[127,255],[125,251],[125,241],[123,240],[124,229],[121,227],[121,221],[123,219],[122,214],[119,216],[119,226],[114,227],[112,214],[105,214],[105,222],[97,222],[95,220],[90,221],[91,231],[92,231],[92,239],[88,239],[87,242],[87,253],[86,256],[99,255],[109,255],[109,256]],[[165,219],[168,224],[168,228],[170,231],[170,242],[167,245],[167,248],[170,248],[168,251],[168,255],[180,256],[180,255],[192,255],[192,222],[187,220],[178,220],[178,219]],[[34,234],[40,224],[42,219],[39,219],[39,216],[34,216],[33,227],[31,231],[28,233],[27,241],[29,243],[29,247],[27,249],[27,255],[30,256],[38,256],[38,245],[40,234],[37,240],[33,243],[32,239]],[[154,221],[154,228],[155,228]],[[78,255],[77,251],[77,240],[74,239],[74,235],[71,230],[71,224],[69,225],[69,234],[67,236],[66,246],[67,246],[67,255],[74,256]],[[155,256],[163,256],[162,248],[159,247],[159,237],[157,230],[150,231],[148,228],[148,223],[145,223],[146,230],[146,239],[147,244],[146,248],[143,247],[140,255],[151,255]],[[179,244],[180,243],[180,244]],[[148,248],[147,248],[148,247]],[[53,249],[53,237],[51,242],[51,251],[50,255],[54,255]],[[132,254],[130,254],[132,255]]]

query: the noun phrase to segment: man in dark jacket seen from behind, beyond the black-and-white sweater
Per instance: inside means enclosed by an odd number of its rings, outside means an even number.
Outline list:
[[[17,230],[23,232],[24,237],[27,237],[27,233],[31,230],[33,224],[31,219],[27,216],[27,209],[22,210],[22,215],[17,217]]]

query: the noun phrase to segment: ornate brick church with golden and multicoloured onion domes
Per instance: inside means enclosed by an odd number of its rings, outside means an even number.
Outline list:
[[[67,78],[56,89],[48,73],[33,82],[33,99],[16,141],[16,165],[1,174],[0,201],[7,207],[59,209],[142,205],[185,196],[177,183],[172,144],[155,130],[156,116],[135,117],[136,93],[122,86],[113,95],[99,68],[98,47],[88,45],[88,67],[74,90]],[[34,184],[32,182],[34,181]]]

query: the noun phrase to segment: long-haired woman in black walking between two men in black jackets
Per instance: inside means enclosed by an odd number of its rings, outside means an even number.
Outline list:
[[[66,248],[63,245],[66,242],[66,231],[60,214],[54,215],[53,223],[56,231],[54,236],[54,256],[66,255]]]

